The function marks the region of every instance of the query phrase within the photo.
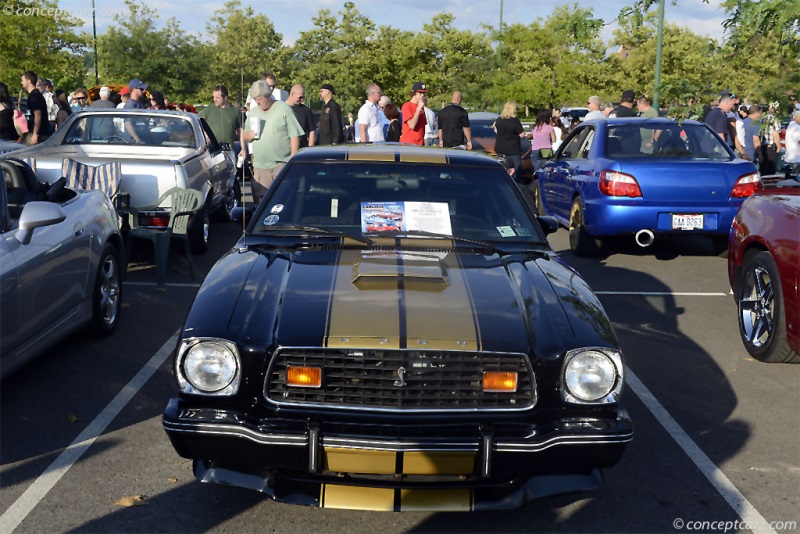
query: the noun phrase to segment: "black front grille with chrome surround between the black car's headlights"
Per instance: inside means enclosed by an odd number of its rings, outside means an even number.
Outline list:
[[[288,386],[289,366],[321,368],[322,386]],[[517,390],[484,392],[486,371],[517,373]],[[282,348],[273,356],[264,395],[276,404],[345,409],[517,411],[536,404],[536,381],[523,354]]]

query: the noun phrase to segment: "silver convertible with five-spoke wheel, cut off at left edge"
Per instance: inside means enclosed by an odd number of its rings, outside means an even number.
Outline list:
[[[45,188],[20,160],[0,160],[0,376],[82,329],[120,317],[122,237],[99,191]]]

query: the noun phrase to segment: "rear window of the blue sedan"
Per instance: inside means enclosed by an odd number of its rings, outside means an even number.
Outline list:
[[[680,158],[729,160],[725,144],[702,124],[657,123],[609,126],[605,146],[609,158]]]

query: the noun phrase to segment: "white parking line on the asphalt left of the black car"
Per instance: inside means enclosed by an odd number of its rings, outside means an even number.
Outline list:
[[[164,364],[167,357],[172,354],[178,342],[179,332],[175,332],[164,345],[158,349],[150,361],[142,367],[136,376],[122,388],[117,396],[106,406],[100,414],[94,418],[80,435],[64,449],[50,467],[31,484],[25,492],[20,495],[14,504],[0,516],[0,532],[12,532],[20,523],[31,513],[45,495],[53,489],[53,486],[61,480],[67,471],[75,465],[83,453],[94,443],[103,433],[106,427],[119,415],[122,409],[139,392],[140,389],[150,380],[150,377]]]

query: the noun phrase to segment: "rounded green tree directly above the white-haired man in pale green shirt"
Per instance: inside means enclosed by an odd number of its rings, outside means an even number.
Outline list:
[[[247,98],[250,85],[264,71],[272,71],[279,83],[288,79],[288,51],[283,36],[266,15],[256,15],[253,8],[243,8],[239,0],[230,0],[214,13],[206,25],[211,38],[208,47],[210,76],[205,81],[204,99],[218,84],[228,87],[232,99],[240,91]],[[288,89],[288,87],[287,87]]]

